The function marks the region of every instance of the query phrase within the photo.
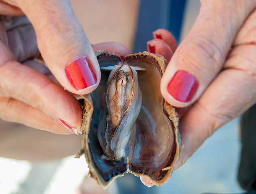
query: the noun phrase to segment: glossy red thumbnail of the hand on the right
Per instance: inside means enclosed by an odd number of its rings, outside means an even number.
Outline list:
[[[167,86],[167,92],[177,101],[189,102],[198,87],[197,78],[186,71],[178,71],[171,78]]]

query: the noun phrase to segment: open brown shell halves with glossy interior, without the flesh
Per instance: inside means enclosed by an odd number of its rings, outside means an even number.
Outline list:
[[[106,142],[103,135],[97,131],[98,125],[102,123],[101,111],[104,109],[105,95],[108,90],[107,80],[109,71],[102,70],[102,78],[99,86],[93,93],[83,96],[85,98],[82,123],[82,146],[89,174],[99,185],[106,187],[116,177],[123,176],[125,172],[133,173],[135,176],[146,176],[157,186],[165,183],[173,171],[180,154],[180,137],[178,133],[178,118],[174,108],[162,97],[160,92],[160,80],[165,70],[166,60],[157,54],[137,53],[127,55],[123,60],[113,53],[97,51],[97,59],[100,67],[129,64],[128,66],[139,66],[146,71],[138,71],[138,83],[142,93],[142,103],[138,103],[139,113],[135,113],[135,123],[129,133],[128,142],[125,146],[124,157],[112,157],[106,154]],[[111,76],[111,75],[110,75]],[[136,98],[138,99],[138,97]],[[140,108],[141,106],[141,108]],[[105,105],[106,109],[106,105]],[[134,110],[134,109],[133,109]],[[105,110],[102,114],[107,114]],[[103,116],[104,117],[104,116]],[[106,116],[105,116],[106,117]],[[106,118],[104,118],[106,119]],[[106,124],[106,123],[105,123]],[[101,127],[101,126],[100,126]],[[105,126],[106,127],[106,126]],[[105,131],[104,131],[105,130]],[[118,134],[118,138],[127,137],[127,133]],[[120,136],[120,137],[119,137]],[[109,143],[109,142],[108,142]],[[102,145],[103,146],[102,146]]]

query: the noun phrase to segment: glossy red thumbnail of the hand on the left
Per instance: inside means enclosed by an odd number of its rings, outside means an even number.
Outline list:
[[[82,90],[97,83],[97,77],[87,57],[79,57],[65,68],[66,75],[76,90]]]

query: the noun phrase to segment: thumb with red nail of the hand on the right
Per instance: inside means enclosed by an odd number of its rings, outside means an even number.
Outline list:
[[[177,48],[161,80],[161,93],[168,103],[185,107],[202,95],[222,69],[236,32],[254,4],[202,1],[192,30]]]

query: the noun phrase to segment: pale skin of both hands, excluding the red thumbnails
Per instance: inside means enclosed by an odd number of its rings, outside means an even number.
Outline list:
[[[66,78],[65,65],[78,56],[87,56],[99,81],[93,49],[108,49],[123,56],[129,53],[128,49],[118,43],[91,46],[67,0],[4,2],[0,3],[4,4],[4,8],[0,6],[1,15],[25,14],[35,32],[25,18],[16,23],[8,18],[1,20],[0,117],[53,133],[70,133],[59,122],[60,118],[79,129],[81,108],[68,91],[86,94],[93,91],[98,82],[95,86],[75,90]],[[161,81],[162,95],[171,105],[182,108],[177,111],[184,149],[176,168],[182,166],[214,131],[256,103],[255,8],[253,0],[218,3],[201,0],[199,16],[177,49],[175,42],[170,41],[172,36],[162,30],[157,31],[163,33],[162,40],[150,42],[157,53],[171,59]],[[14,23],[11,25],[11,22]],[[37,44],[32,41],[35,33]],[[26,44],[19,43],[22,41]],[[39,51],[48,68],[27,61]],[[199,82],[187,103],[176,101],[166,89],[178,70],[193,74]]]

